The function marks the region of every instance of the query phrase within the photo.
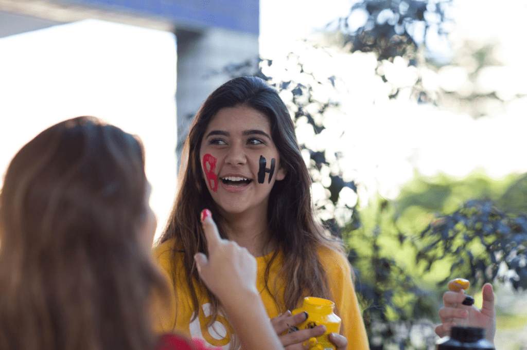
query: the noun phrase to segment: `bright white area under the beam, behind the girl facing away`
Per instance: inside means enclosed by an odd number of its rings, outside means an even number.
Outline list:
[[[0,39],[0,174],[25,143],[93,115],[139,135],[160,234],[176,186],[175,38],[97,20]]]

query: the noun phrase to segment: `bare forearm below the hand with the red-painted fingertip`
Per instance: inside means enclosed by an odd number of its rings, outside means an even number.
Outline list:
[[[232,301],[223,303],[245,350],[284,349],[272,326],[264,303],[255,291],[240,291]],[[235,300],[234,300],[235,299]]]

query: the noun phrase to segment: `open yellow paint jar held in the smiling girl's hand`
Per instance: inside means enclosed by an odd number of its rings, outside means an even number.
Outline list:
[[[340,317],[335,315],[333,309],[335,303],[323,298],[316,298],[308,296],[304,298],[302,305],[294,309],[291,314],[296,315],[301,312],[307,312],[308,317],[306,321],[296,325],[298,330],[314,328],[318,325],[326,326],[326,333],[316,338],[310,338],[308,345],[311,350],[336,350],[335,344],[329,340],[330,333],[338,333],[340,331]],[[314,341],[316,339],[316,342]]]

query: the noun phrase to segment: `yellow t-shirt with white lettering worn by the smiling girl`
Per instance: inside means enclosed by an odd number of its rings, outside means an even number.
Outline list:
[[[172,272],[170,257],[173,249],[173,239],[164,242],[154,249],[155,259],[157,259],[167,278]],[[325,247],[319,249],[319,254],[320,262],[326,268],[331,295],[334,298],[333,302],[338,309],[337,314],[342,319],[344,326],[343,335],[348,339],[347,348],[353,350],[369,349],[366,329],[346,258]],[[261,291],[260,296],[267,309],[269,318],[276,317],[285,311],[278,308],[274,298],[267,288],[265,288],[264,273],[267,267],[266,261],[268,261],[271,255],[272,253],[256,258],[258,264],[257,287]],[[177,291],[175,294],[172,293],[172,309],[164,312],[163,316],[158,316],[157,322],[154,321],[156,331],[159,333],[176,332],[190,338],[201,338],[208,343],[206,345],[222,347],[226,350],[229,349],[232,341],[230,336],[232,327],[225,317],[219,316],[217,321],[207,328],[207,323],[210,320],[210,304],[206,299],[206,295],[198,294],[200,304],[199,314],[196,319],[191,321],[194,310],[192,309],[190,295],[188,294],[187,283],[184,281],[183,254],[175,253],[174,258],[177,260],[177,266],[181,266],[182,273],[177,275],[177,281],[175,283]],[[275,288],[278,291],[283,291],[284,289],[285,281],[277,281],[278,283],[275,284],[278,271],[281,267],[280,264],[281,256],[279,255],[272,263],[269,274],[269,288],[272,293],[276,292]],[[170,278],[169,281],[171,281]],[[171,287],[174,288],[173,285]],[[283,293],[278,293],[278,295],[281,296]],[[283,299],[279,300],[279,303],[283,305]]]

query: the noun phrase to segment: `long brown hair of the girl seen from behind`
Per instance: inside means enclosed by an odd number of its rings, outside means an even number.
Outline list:
[[[14,156],[0,194],[0,348],[150,350],[152,294],[167,286],[141,245],[144,152],[77,117]]]

